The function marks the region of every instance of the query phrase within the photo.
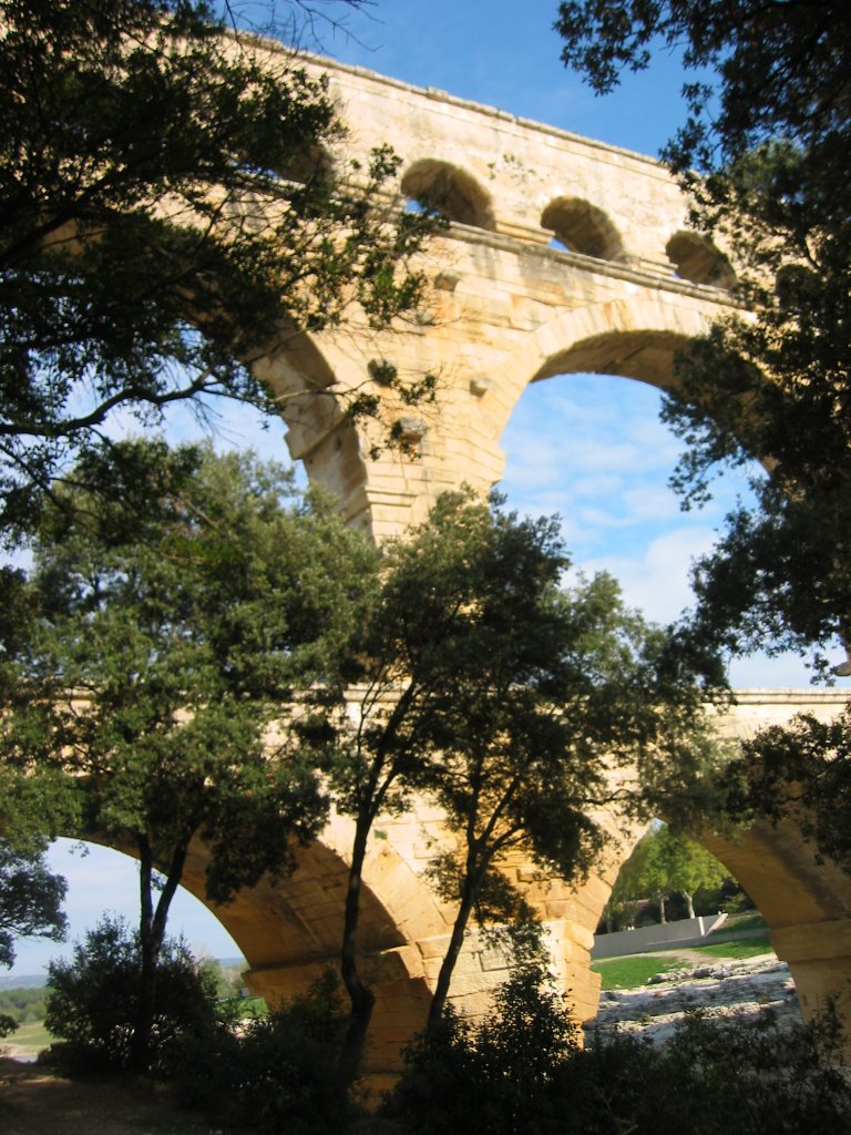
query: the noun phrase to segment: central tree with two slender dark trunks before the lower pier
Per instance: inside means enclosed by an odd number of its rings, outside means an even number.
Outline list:
[[[385,550],[354,715],[328,740],[336,805],[355,827],[342,955],[353,1062],[373,1003],[356,948],[380,813],[424,792],[457,833],[457,850],[435,865],[458,902],[435,1023],[473,911],[487,923],[522,908],[498,871],[505,857],[520,850],[581,874],[603,838],[588,812],[618,796],[609,760],[652,781],[699,735],[703,691],[666,670],[665,637],[624,609],[608,577],[561,591],[566,564],[555,521],[520,520],[471,494],[443,496],[428,523]]]

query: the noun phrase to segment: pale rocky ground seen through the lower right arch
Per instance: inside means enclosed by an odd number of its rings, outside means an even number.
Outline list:
[[[705,956],[688,950],[677,953],[693,964],[659,974],[639,989],[603,993],[587,1033],[617,1026],[662,1041],[685,1011],[696,1008],[713,1015],[773,1009],[781,1018],[800,1019],[789,966],[773,953],[717,965],[707,965]]]

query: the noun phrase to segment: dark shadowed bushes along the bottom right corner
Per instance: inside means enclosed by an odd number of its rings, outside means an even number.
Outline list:
[[[576,1044],[533,974],[512,978],[478,1028],[449,1015],[406,1056],[387,1111],[415,1135],[800,1135],[851,1130],[835,1014],[810,1028],[688,1015],[674,1036]]]

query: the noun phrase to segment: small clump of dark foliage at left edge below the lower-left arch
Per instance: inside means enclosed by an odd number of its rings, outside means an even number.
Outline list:
[[[43,856],[16,852],[0,840],[0,966],[15,961],[17,938],[65,939],[66,890],[65,880],[48,871]]]

